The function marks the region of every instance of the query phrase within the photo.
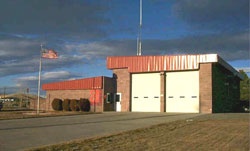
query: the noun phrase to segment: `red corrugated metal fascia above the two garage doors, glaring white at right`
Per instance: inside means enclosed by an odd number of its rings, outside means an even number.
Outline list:
[[[199,68],[199,63],[217,61],[217,54],[176,56],[118,56],[107,57],[107,68],[128,68],[129,72],[193,70]]]

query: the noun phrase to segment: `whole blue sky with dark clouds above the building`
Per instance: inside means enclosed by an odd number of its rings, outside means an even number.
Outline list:
[[[248,0],[143,0],[142,54],[217,53],[249,71]],[[1,0],[0,94],[41,83],[111,76],[110,55],[136,55],[139,0]],[[44,94],[44,92],[42,92]]]

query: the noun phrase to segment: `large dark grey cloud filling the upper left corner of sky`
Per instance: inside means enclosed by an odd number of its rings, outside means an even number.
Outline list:
[[[103,15],[108,7],[101,1],[1,0],[0,31],[20,34],[49,34],[95,39],[106,33]]]

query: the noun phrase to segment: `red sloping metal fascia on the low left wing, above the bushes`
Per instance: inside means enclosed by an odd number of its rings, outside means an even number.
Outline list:
[[[43,90],[86,90],[102,89],[103,77],[93,77],[70,81],[47,83],[42,85]]]

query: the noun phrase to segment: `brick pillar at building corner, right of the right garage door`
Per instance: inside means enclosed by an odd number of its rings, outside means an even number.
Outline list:
[[[212,64],[200,64],[200,113],[212,113]]]

